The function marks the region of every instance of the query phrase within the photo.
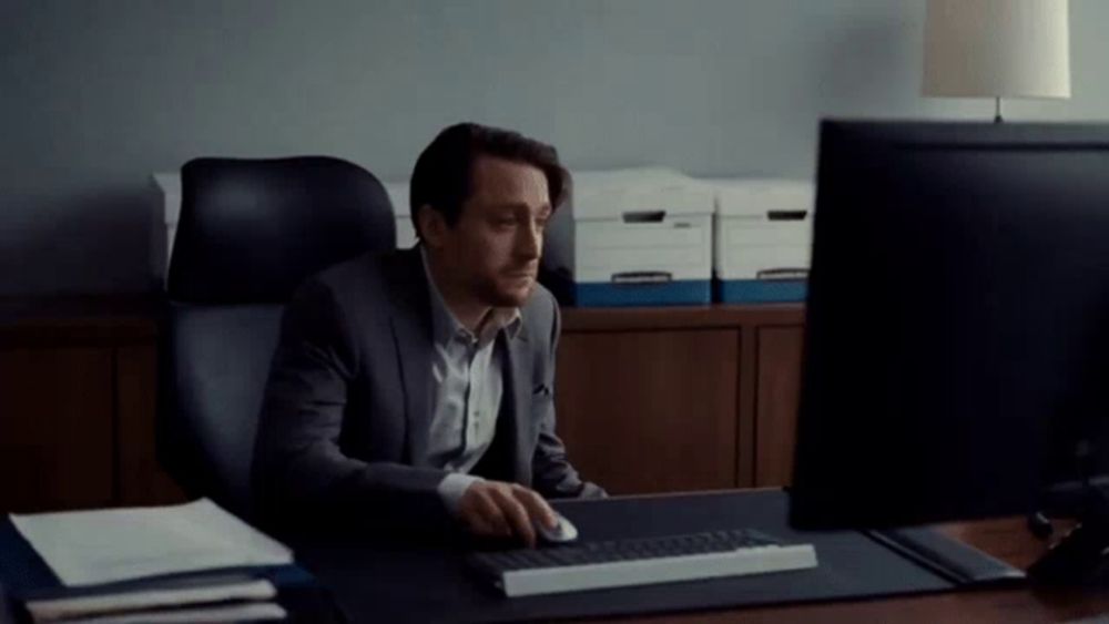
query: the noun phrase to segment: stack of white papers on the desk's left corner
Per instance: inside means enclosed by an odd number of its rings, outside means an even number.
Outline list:
[[[80,595],[28,601],[37,622],[277,620],[266,580],[199,573],[293,562],[285,545],[207,499],[181,505],[11,515],[63,585]],[[154,580],[151,580],[155,577]],[[135,586],[106,583],[145,580]],[[248,601],[248,602],[244,602]]]

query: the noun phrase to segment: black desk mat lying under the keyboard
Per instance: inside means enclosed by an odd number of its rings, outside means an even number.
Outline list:
[[[583,540],[752,528],[812,543],[818,567],[797,572],[506,599],[476,579],[465,550],[336,540],[295,545],[297,560],[354,622],[519,622],[833,601],[947,591],[952,581],[853,531],[797,532],[780,491],[567,501]]]

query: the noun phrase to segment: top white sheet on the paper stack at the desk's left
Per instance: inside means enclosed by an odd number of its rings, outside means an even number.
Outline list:
[[[207,499],[191,503],[11,515],[64,585],[91,585],[240,565],[293,553]]]

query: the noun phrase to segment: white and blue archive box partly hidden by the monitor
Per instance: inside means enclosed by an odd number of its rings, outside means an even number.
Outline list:
[[[815,187],[803,180],[711,180],[713,277],[723,303],[803,301]]]

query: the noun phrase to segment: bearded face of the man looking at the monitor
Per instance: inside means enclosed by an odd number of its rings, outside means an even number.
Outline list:
[[[531,295],[551,215],[547,177],[535,166],[481,156],[454,227],[436,228],[451,282],[475,303],[519,307]]]

